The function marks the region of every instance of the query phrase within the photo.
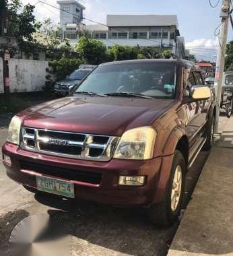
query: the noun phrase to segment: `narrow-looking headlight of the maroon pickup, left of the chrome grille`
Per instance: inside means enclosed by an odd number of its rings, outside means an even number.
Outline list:
[[[21,120],[19,117],[14,116],[9,123],[7,141],[20,145],[20,127]]]

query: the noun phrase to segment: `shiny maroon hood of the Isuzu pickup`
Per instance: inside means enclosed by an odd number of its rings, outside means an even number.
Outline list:
[[[121,136],[153,125],[176,100],[78,96],[53,100],[18,114],[26,127]]]

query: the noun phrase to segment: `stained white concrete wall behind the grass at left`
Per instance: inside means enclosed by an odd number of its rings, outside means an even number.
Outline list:
[[[41,91],[45,84],[47,61],[9,59],[10,92]]]

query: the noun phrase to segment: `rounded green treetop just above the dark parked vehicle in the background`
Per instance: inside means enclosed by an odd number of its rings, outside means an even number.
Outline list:
[[[79,38],[75,50],[88,64],[98,65],[107,60],[106,46],[102,42],[86,36]]]

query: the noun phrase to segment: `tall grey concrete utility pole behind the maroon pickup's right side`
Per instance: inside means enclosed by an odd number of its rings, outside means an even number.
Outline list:
[[[229,15],[230,15],[230,0],[222,0],[222,9],[220,13],[222,24],[220,27],[218,57],[216,61],[215,81],[214,81],[215,89],[217,88],[217,94],[216,94],[217,111],[216,111],[216,118],[215,118],[215,133],[218,133],[218,123],[219,123],[219,117],[220,117],[220,104],[222,99],[222,84],[223,84],[223,77],[224,77],[226,41],[228,38]]]

